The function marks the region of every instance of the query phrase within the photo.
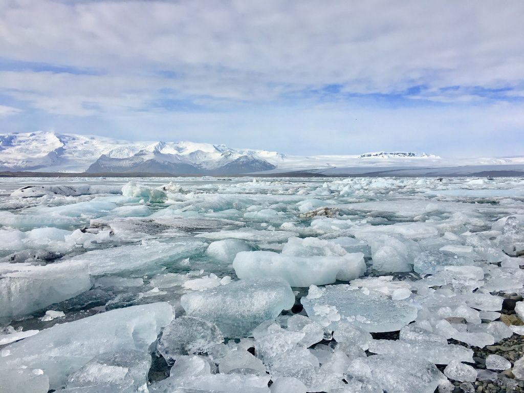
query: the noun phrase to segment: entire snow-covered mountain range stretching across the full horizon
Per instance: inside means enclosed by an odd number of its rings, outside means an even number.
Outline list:
[[[0,171],[240,174],[355,174],[395,168],[514,166],[524,159],[449,160],[411,151],[361,155],[289,156],[275,151],[233,149],[190,141],[126,141],[99,136],[35,132],[0,135]],[[373,170],[372,170],[373,169]]]

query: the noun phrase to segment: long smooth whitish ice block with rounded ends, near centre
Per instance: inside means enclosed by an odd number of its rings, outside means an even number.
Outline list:
[[[362,254],[311,256],[277,254],[270,251],[238,253],[233,261],[239,278],[276,276],[292,287],[324,285],[339,279],[361,276],[366,270]]]

